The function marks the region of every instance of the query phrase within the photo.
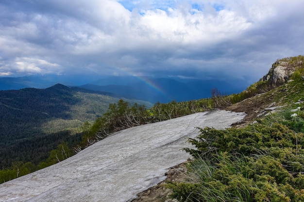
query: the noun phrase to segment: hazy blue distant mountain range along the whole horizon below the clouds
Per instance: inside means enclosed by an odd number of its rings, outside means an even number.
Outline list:
[[[211,89],[217,88],[224,94],[239,93],[247,87],[240,81],[200,80],[182,78],[150,78],[134,76],[113,76],[107,78],[79,78],[72,76],[27,76],[20,78],[0,78],[0,90],[22,88],[48,88],[56,83],[69,87],[101,91],[111,96],[145,100],[151,103],[168,103],[172,100],[188,101],[211,97]]]

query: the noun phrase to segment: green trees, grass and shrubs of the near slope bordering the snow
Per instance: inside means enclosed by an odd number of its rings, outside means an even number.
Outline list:
[[[214,108],[243,110],[249,115],[242,128],[201,128],[201,134],[189,140],[197,149],[185,151],[195,160],[188,165],[186,182],[167,186],[173,191],[172,197],[181,202],[304,201],[303,59],[298,56],[278,60],[268,75],[238,94],[226,96],[214,89],[208,99],[156,103],[150,109],[119,100],[110,104],[94,123],[85,122],[82,141],[74,150],[62,143],[38,167],[59,162],[125,128]],[[280,65],[290,70],[281,80],[276,77],[282,74],[275,70]],[[277,112],[265,116],[270,104]],[[30,165],[16,164],[2,170],[0,179],[19,176],[23,167],[30,170]],[[10,172],[14,174],[8,179]]]

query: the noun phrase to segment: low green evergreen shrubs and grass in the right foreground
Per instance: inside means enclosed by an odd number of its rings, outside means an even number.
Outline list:
[[[265,122],[267,123],[267,122]],[[300,202],[304,135],[281,123],[200,129],[186,148],[195,159],[187,183],[171,183],[181,202]]]

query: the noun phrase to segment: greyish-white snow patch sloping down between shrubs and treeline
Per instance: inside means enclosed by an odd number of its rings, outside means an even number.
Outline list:
[[[201,112],[119,131],[62,162],[0,185],[2,202],[127,202],[190,157],[196,127],[224,129],[245,113]]]

